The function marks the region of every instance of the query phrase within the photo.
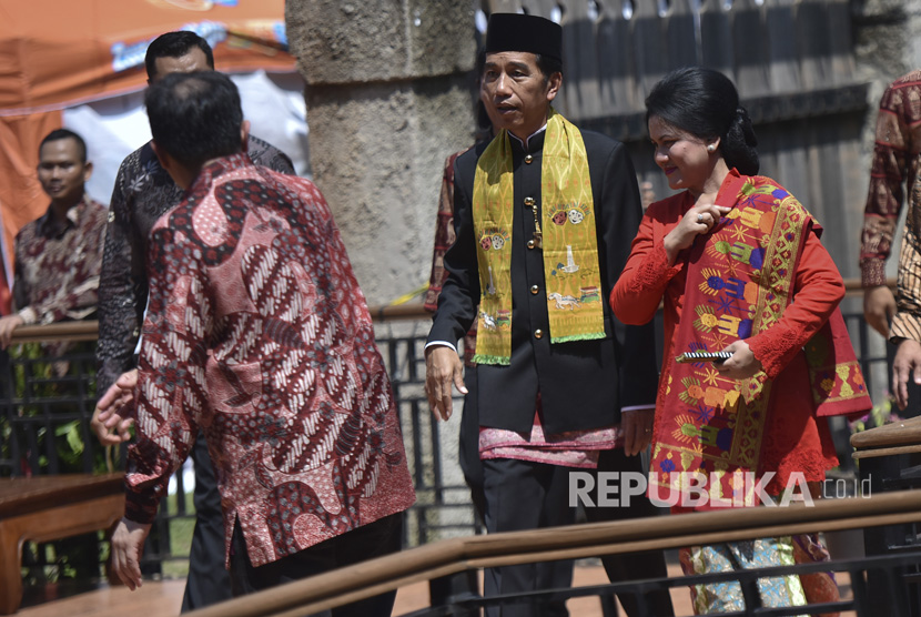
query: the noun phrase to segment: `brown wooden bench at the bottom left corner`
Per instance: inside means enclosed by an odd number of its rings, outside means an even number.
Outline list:
[[[0,478],[0,615],[22,601],[22,545],[110,529],[124,514],[124,474]]]

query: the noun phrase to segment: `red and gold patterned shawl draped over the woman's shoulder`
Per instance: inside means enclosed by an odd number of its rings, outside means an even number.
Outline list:
[[[721,351],[777,323],[791,300],[797,261],[812,229],[806,209],[767,178],[743,178],[733,172],[717,203],[735,208],[706,236],[706,243],[691,247],[686,317],[676,336],[686,347],[676,348],[676,355]],[[826,327],[831,330],[828,324]],[[826,361],[847,367],[834,374],[851,384],[851,403],[866,405],[866,387],[859,367],[852,364],[856,358],[847,331],[838,341],[847,342],[850,357],[842,357],[839,346],[831,350],[832,338],[817,335],[810,345],[826,350]],[[708,493],[710,506],[757,505],[753,483],[743,472],[758,471],[771,381],[763,372],[748,380],[728,380],[711,364],[678,364],[674,358],[666,370],[650,494],[665,500],[670,490],[687,493],[695,484]],[[826,385],[834,392],[847,391],[839,383]],[[701,479],[706,486],[700,486]]]

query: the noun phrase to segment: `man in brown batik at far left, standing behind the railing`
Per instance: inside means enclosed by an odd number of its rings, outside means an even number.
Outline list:
[[[17,312],[0,318],[3,348],[17,326],[95,313],[107,211],[84,192],[92,170],[87,144],[73,131],[52,131],[39,145],[39,183],[51,204],[16,236]],[[47,345],[49,355],[64,351],[61,344]]]

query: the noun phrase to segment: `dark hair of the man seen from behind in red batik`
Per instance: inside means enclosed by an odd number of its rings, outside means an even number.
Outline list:
[[[240,92],[216,71],[172,73],[144,95],[158,148],[185,166],[236,154],[243,149]]]

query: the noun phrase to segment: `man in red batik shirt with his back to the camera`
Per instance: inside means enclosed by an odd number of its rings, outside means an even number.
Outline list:
[[[117,574],[141,583],[141,545],[199,428],[220,469],[234,595],[398,550],[414,493],[396,405],[323,196],[242,151],[226,77],[169,75],[145,104],[186,192],[149,239]],[[394,597],[351,608],[389,615]]]

